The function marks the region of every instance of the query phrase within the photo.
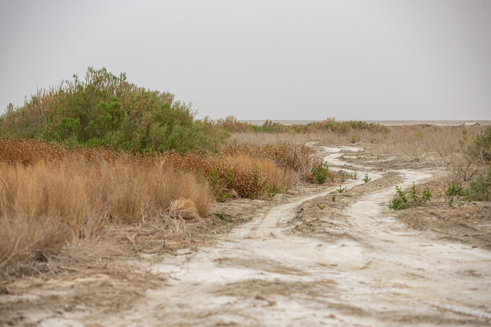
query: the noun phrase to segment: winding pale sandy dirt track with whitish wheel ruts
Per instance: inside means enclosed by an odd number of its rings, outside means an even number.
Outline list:
[[[332,169],[341,150],[324,148]],[[353,167],[353,166],[351,166]],[[343,167],[346,170],[346,168]],[[372,181],[384,173],[358,165]],[[398,170],[403,186],[432,175]],[[348,192],[362,186],[347,181]],[[341,209],[319,210],[315,233],[295,219],[335,190],[300,197],[224,235],[217,244],[151,267],[169,286],[147,291],[116,314],[74,312],[41,326],[488,326],[491,252],[408,230],[386,204],[395,185],[366,192]],[[310,201],[310,202],[309,202]],[[336,237],[324,235],[325,223]]]

